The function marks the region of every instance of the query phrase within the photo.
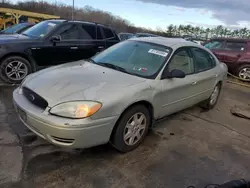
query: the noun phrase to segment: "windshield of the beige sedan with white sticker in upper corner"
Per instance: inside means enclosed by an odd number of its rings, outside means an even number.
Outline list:
[[[127,73],[155,78],[171,49],[166,46],[141,41],[118,43],[92,58],[96,64],[112,64]]]

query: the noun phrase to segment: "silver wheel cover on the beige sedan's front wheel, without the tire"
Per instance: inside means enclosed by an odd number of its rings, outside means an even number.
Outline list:
[[[143,113],[136,113],[126,123],[123,140],[129,145],[133,146],[141,140],[147,126],[147,119]]]

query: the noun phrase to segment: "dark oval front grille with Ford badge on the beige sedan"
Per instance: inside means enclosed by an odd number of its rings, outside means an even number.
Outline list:
[[[23,87],[23,95],[34,105],[45,109],[48,106],[48,102],[44,100],[41,96],[36,94],[34,91],[27,87]]]

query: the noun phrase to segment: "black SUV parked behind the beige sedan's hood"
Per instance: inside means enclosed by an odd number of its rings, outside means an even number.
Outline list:
[[[20,35],[0,35],[0,78],[20,83],[43,67],[87,59],[120,42],[107,26],[47,20]]]

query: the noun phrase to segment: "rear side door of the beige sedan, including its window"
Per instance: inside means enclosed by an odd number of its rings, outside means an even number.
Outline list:
[[[214,57],[204,49],[192,47],[191,52],[194,57],[195,65],[195,82],[193,85],[196,89],[197,101],[202,101],[211,95],[216,84],[218,72]]]

